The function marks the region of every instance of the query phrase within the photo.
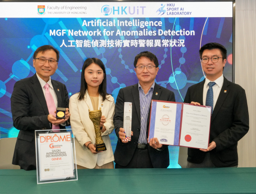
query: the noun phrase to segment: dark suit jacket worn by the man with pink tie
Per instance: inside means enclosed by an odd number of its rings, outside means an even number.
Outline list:
[[[52,85],[57,95],[58,107],[68,107],[66,86],[55,80],[52,80]],[[15,83],[11,95],[11,112],[13,126],[20,130],[12,164],[25,170],[36,169],[35,130],[52,129],[52,124],[47,119],[49,111],[43,90],[36,74]],[[66,123],[69,125],[69,122]]]

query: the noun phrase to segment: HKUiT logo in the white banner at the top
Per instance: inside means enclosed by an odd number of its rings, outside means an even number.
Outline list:
[[[109,5],[104,5],[101,8],[101,12],[104,15],[110,15],[113,11],[113,15],[143,15],[144,14],[144,9],[146,8],[146,6],[118,6],[115,7],[113,6],[113,8],[111,8]]]

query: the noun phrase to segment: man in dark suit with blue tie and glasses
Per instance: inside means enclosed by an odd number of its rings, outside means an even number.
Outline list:
[[[184,103],[212,106],[210,144],[207,149],[188,148],[187,167],[237,167],[237,141],[249,130],[245,90],[223,77],[224,46],[207,43],[199,53],[206,78],[188,88]]]

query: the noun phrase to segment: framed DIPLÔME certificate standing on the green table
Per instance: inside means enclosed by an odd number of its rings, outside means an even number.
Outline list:
[[[37,184],[77,180],[72,130],[36,130]]]

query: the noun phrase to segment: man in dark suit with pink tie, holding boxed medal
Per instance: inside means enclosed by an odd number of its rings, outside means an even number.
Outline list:
[[[37,73],[19,80],[13,88],[11,95],[13,126],[20,132],[12,164],[19,165],[24,170],[36,169],[35,130],[58,131],[70,125],[69,96],[66,86],[50,77],[57,70],[58,60],[59,52],[53,46],[39,47],[34,53],[33,60]],[[66,107],[65,119],[55,118],[56,107]]]

